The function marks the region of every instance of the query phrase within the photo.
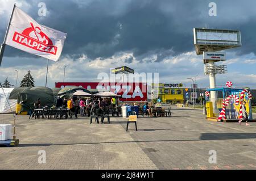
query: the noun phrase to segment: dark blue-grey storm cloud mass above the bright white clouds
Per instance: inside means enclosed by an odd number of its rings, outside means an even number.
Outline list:
[[[73,60],[86,54],[90,59],[106,58],[118,52],[133,52],[137,58],[157,54],[158,62],[193,50],[194,27],[238,29],[242,48],[237,53],[255,52],[255,12],[253,0],[214,1],[217,16],[209,16],[209,2],[170,0],[43,1],[49,14],[39,18],[38,2],[31,3],[27,13],[45,26],[67,32],[63,56]],[[2,26],[2,24],[1,24]],[[5,25],[6,26],[6,25]],[[0,28],[3,39],[5,28]],[[5,56],[28,56],[28,53],[6,48]],[[33,56],[34,57],[34,56]],[[132,60],[127,60],[127,63]]]

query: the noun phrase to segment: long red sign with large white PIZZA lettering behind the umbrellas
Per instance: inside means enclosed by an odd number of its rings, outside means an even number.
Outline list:
[[[146,101],[147,83],[142,82],[56,82],[55,87],[81,86],[85,89],[96,89],[98,91],[111,91],[121,95],[121,101]]]

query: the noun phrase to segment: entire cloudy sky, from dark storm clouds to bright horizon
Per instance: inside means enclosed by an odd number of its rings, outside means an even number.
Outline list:
[[[65,82],[98,81],[101,72],[126,65],[138,73],[159,72],[160,82],[191,83],[209,87],[203,56],[193,45],[193,28],[241,30],[242,47],[225,50],[228,74],[217,75],[217,85],[256,87],[256,1],[216,0],[0,0],[0,41],[3,41],[13,5],[38,23],[67,33],[58,62],[49,62],[48,87]],[[39,2],[47,7],[39,16]],[[217,4],[217,16],[209,16],[210,2]],[[219,63],[220,64],[220,63]],[[44,86],[47,60],[6,46],[0,68],[0,82],[6,77],[18,84],[31,70],[36,86]]]

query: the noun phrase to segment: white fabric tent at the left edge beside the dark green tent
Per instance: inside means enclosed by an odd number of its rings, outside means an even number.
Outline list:
[[[0,113],[11,113],[11,110],[15,112],[17,100],[9,99],[9,96],[11,94],[11,91],[13,91],[13,89],[14,88],[3,88],[3,89],[0,88]],[[3,91],[5,92],[5,94]],[[9,107],[9,104],[6,98],[8,99],[11,108]]]

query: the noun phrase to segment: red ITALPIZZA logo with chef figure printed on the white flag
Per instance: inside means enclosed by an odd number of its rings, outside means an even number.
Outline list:
[[[14,32],[13,41],[26,47],[56,55],[57,47],[53,46],[52,40],[41,31],[39,27],[26,28],[22,33]]]

